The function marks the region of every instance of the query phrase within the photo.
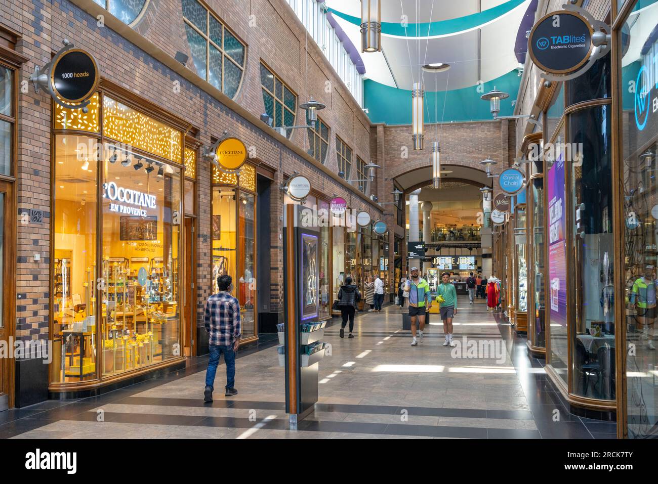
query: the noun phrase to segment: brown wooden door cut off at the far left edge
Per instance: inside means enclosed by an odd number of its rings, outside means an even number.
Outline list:
[[[14,283],[13,262],[16,260],[14,243],[13,185],[0,182],[0,341],[7,342],[11,351],[13,345],[9,338],[13,336],[14,321]],[[0,412],[7,410],[12,393],[13,358],[0,358]]]

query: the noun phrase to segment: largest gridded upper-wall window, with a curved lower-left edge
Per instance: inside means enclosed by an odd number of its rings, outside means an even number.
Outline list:
[[[197,74],[234,99],[243,76],[245,45],[196,0],[182,0],[182,8]]]

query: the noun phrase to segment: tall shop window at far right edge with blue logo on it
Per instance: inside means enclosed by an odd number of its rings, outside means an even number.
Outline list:
[[[638,7],[642,6],[642,10]],[[624,251],[623,303],[626,324],[626,412],[628,437],[655,438],[658,427],[658,385],[655,383],[656,293],[658,280],[658,114],[655,57],[658,3],[638,2],[626,20],[621,58],[620,116],[623,182],[621,205]],[[622,32],[624,32],[622,31]],[[626,86],[634,85],[629,92]],[[620,300],[620,297],[617,299]],[[614,362],[614,359],[613,359]],[[614,376],[614,370],[612,371]]]

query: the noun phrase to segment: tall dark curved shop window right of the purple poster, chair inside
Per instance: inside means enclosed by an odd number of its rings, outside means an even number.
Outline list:
[[[574,272],[571,296],[572,393],[615,399],[614,239],[610,106],[569,116],[569,141],[582,147],[569,158]],[[580,148],[579,148],[580,151]]]

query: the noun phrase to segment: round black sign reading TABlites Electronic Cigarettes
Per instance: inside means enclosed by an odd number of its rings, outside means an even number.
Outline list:
[[[555,26],[559,22],[559,26]],[[590,58],[592,26],[576,12],[557,11],[542,17],[528,36],[528,53],[545,72],[567,74]]]

